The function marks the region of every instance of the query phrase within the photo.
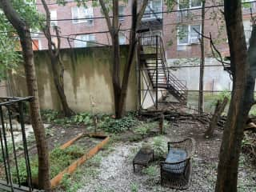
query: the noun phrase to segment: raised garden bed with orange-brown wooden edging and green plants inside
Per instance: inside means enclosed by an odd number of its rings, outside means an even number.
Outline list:
[[[66,142],[62,146],[50,152],[50,184],[51,188],[58,186],[65,174],[72,174],[87,159],[92,158],[109,141],[110,137],[103,134],[78,134],[77,137]],[[20,161],[19,167],[26,166],[25,162]],[[34,186],[37,186],[38,179],[38,158],[31,158],[31,172]],[[63,167],[66,167],[63,169]],[[13,171],[15,178],[15,171]],[[26,172],[20,171],[20,176],[26,183]],[[22,175],[23,174],[23,175]]]

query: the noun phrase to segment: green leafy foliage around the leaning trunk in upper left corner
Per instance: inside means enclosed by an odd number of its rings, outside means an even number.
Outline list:
[[[14,9],[27,22],[31,29],[38,29],[42,16],[38,14],[34,0],[12,0]],[[14,70],[22,60],[19,50],[19,39],[13,26],[0,9],[0,80],[7,78],[7,70]]]

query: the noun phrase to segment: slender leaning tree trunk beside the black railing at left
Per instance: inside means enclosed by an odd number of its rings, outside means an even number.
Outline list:
[[[34,54],[30,27],[19,17],[18,13],[11,6],[10,1],[0,0],[0,2],[2,4],[2,10],[6,14],[6,18],[8,18],[10,23],[17,30],[22,44],[27,90],[30,96],[34,96],[33,101],[30,102],[30,115],[38,150],[38,185],[40,189],[50,191],[49,154],[45,130],[39,110],[38,85],[34,69]]]

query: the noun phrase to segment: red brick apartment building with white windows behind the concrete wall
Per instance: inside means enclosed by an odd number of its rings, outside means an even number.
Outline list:
[[[90,3],[85,7],[78,7],[76,2],[66,1],[66,6],[59,6],[55,1],[47,1],[51,13],[51,25],[58,26],[62,35],[62,48],[103,46],[110,45],[110,35],[107,33],[106,20],[102,17],[100,7],[93,7]],[[201,31],[201,7],[200,0],[179,0],[173,11],[168,11],[163,0],[150,0],[146,7],[146,13],[142,18],[142,27],[150,31],[144,35],[161,34],[166,48],[166,58],[198,58],[200,57],[200,42],[198,33]],[[37,1],[38,11],[44,13],[42,2]],[[205,34],[212,35],[216,46],[223,54],[228,54],[225,22],[221,2],[206,1]],[[120,44],[129,42],[130,8],[131,1],[120,4]],[[255,3],[251,3],[253,13]],[[244,23],[247,41],[250,38],[250,8],[244,6]],[[122,17],[123,15],[123,17]],[[195,30],[194,30],[195,29]],[[52,33],[54,34],[54,32]],[[56,38],[53,38],[57,41]],[[46,38],[42,34],[34,34],[34,41],[39,50],[47,49]],[[212,57],[210,42],[205,42],[206,57]]]

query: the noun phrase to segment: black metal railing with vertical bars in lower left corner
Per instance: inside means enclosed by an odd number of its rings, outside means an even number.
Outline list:
[[[0,191],[38,191],[34,190],[32,186],[30,158],[24,122],[25,105],[31,99],[33,97],[0,98]],[[18,119],[18,126],[16,125],[19,131],[18,136],[14,134],[14,119]],[[18,144],[22,146],[22,150],[18,150]],[[26,164],[26,183],[22,183],[21,181],[20,168],[18,167],[18,162],[20,161],[25,161]]]

